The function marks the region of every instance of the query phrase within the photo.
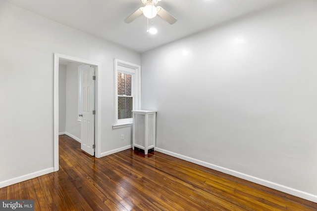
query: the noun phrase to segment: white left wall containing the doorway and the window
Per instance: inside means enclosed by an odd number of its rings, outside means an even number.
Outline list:
[[[131,127],[112,129],[113,58],[139,53],[2,0],[0,29],[0,187],[53,170],[53,53],[101,63],[101,152],[131,145]]]

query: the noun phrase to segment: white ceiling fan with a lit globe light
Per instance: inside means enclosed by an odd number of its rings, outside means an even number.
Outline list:
[[[154,18],[156,15],[163,18],[169,24],[173,24],[177,21],[177,19],[172,16],[169,12],[163,9],[161,6],[155,6],[161,0],[141,0],[145,6],[140,7],[134,13],[132,13],[129,17],[127,17],[124,21],[126,23],[131,23],[139,17],[142,13],[147,18]]]

